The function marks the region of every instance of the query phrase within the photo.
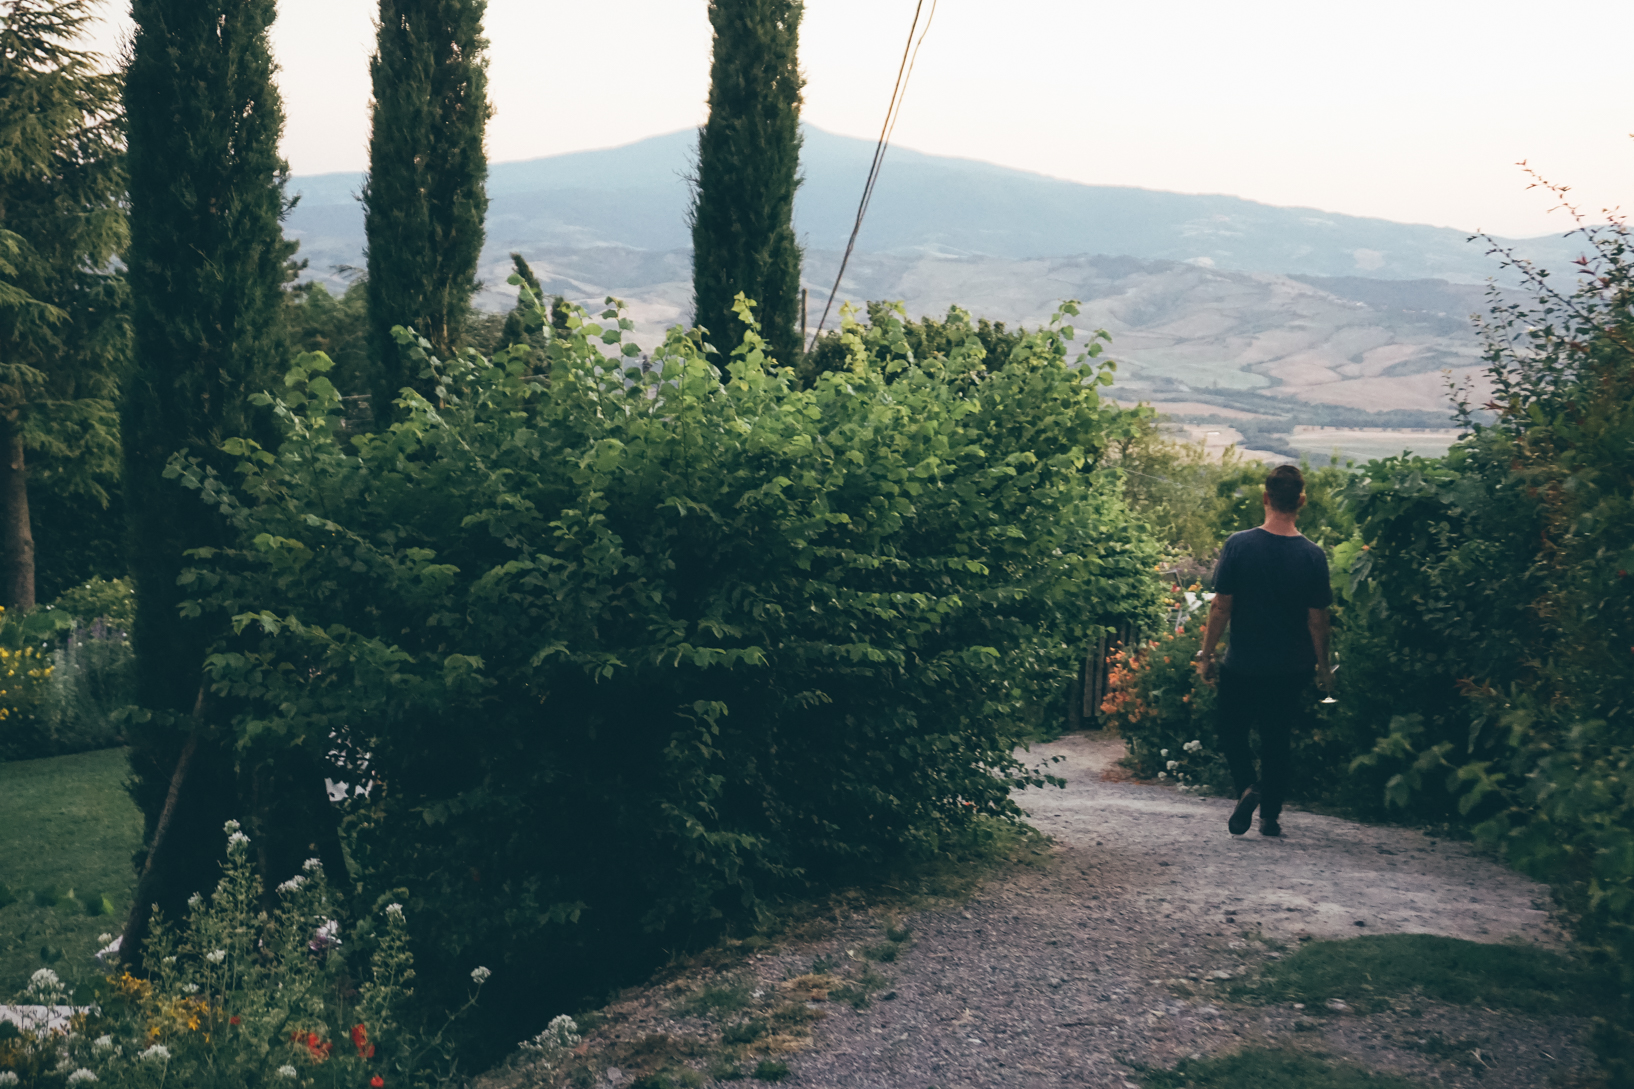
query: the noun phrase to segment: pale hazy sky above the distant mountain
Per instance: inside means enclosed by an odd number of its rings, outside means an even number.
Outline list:
[[[913,5],[807,0],[807,121],[877,134]],[[374,11],[279,3],[296,173],[366,164]],[[487,29],[495,162],[704,118],[703,0],[489,0]],[[895,142],[1098,185],[1542,234],[1569,224],[1526,191],[1520,159],[1590,211],[1624,199],[1631,36],[1627,0],[940,0]]]

